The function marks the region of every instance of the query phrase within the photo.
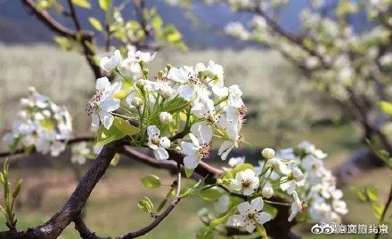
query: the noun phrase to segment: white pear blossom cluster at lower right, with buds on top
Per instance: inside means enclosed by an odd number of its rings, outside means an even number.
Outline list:
[[[253,233],[256,227],[273,219],[270,212],[264,211],[265,203],[274,207],[274,196],[287,200],[281,203],[289,207],[288,221],[302,214],[301,219],[320,223],[339,223],[340,217],[347,213],[343,193],[336,187],[336,179],[326,169],[323,159],[327,156],[322,150],[308,141],[277,151],[265,148],[263,160],[252,166],[244,157],[233,157],[229,167],[224,167],[224,175],[219,180],[232,194],[223,194],[216,200],[218,214],[235,210],[225,222],[225,227],[243,227]],[[246,168],[243,168],[245,167]],[[242,170],[238,170],[242,169]],[[235,172],[233,174],[233,171]],[[233,194],[240,196],[243,202]],[[272,201],[270,201],[272,200]],[[203,209],[200,219],[210,221],[214,213]]]

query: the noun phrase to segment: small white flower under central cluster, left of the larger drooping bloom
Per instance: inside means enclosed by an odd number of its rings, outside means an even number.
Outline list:
[[[155,125],[150,125],[147,128],[149,136],[148,146],[153,150],[154,156],[158,160],[165,160],[168,158],[168,153],[165,148],[170,147],[170,139],[167,137],[160,137],[160,131]]]

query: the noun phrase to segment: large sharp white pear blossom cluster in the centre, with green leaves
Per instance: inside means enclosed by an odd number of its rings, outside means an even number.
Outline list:
[[[218,155],[223,160],[240,147],[247,108],[240,87],[225,86],[221,65],[212,60],[178,68],[167,65],[150,76],[147,67],[156,53],[130,49],[127,58],[123,55],[117,50],[100,61],[115,80],[96,81],[86,109],[94,129],[102,124],[110,130],[115,117],[138,122],[141,133],[135,145],[151,148],[158,160],[167,160],[168,150],[179,150],[189,170],[208,159],[213,139],[221,140]],[[172,141],[180,131],[184,136]]]

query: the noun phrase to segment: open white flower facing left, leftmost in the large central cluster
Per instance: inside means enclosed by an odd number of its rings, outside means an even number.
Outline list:
[[[96,93],[91,100],[88,100],[86,112],[92,116],[91,127],[97,130],[100,121],[106,129],[113,123],[114,116],[110,112],[119,108],[119,100],[113,99],[113,94],[121,89],[121,83],[110,84],[107,77],[96,80]]]

